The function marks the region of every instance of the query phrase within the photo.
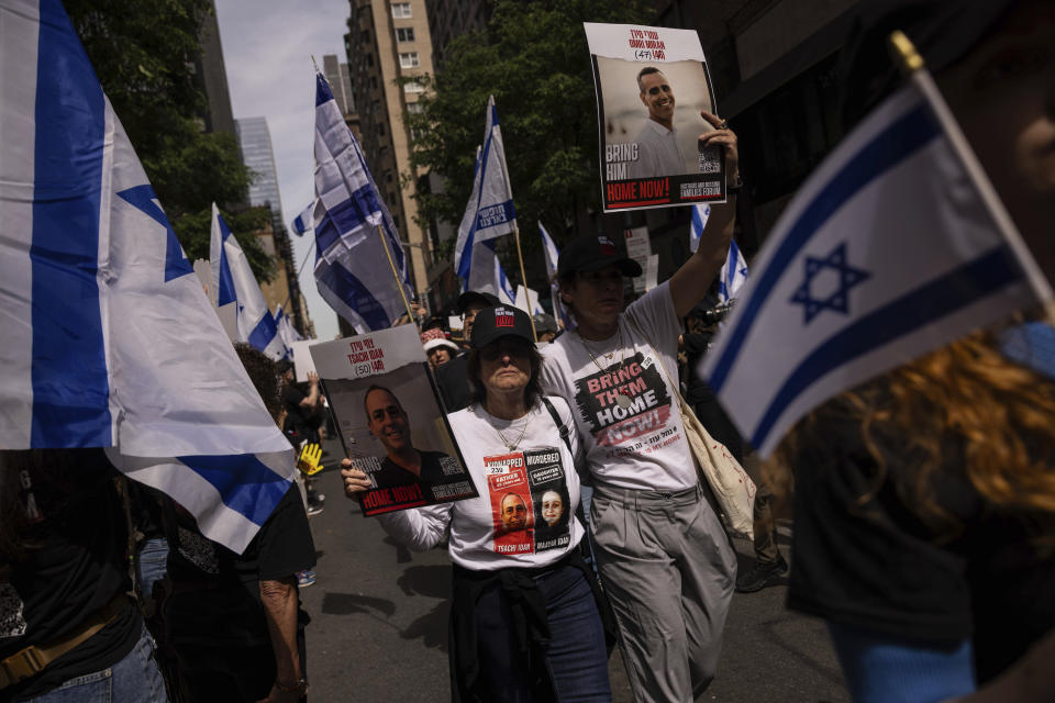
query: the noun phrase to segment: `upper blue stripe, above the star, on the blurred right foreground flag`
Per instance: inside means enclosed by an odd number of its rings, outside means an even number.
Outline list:
[[[866,144],[813,198],[758,277],[736,327],[730,330],[729,344],[708,380],[715,394],[721,392],[759,310],[799,250],[862,189],[926,146],[940,133],[941,129],[925,105],[909,111]]]

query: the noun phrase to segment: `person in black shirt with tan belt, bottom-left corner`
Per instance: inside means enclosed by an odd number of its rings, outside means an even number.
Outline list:
[[[0,451],[0,701],[166,700],[116,476],[101,449]]]

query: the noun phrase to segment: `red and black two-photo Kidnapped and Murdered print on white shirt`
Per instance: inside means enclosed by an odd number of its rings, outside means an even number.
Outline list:
[[[534,554],[571,542],[571,504],[557,448],[484,457],[495,551]]]

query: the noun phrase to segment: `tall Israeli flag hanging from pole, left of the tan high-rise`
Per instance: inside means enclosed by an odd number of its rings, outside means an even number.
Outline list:
[[[315,75],[315,200],[319,293],[358,333],[390,327],[406,312],[399,287],[408,298],[413,294],[410,269],[396,224],[322,74]]]

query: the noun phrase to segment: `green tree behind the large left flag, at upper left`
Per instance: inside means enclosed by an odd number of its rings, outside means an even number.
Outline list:
[[[209,258],[212,202],[260,281],[275,264],[252,232],[267,213],[232,212],[252,171],[232,134],[207,133],[206,96],[196,77],[209,0],[66,0],[74,27],[187,256]]]

